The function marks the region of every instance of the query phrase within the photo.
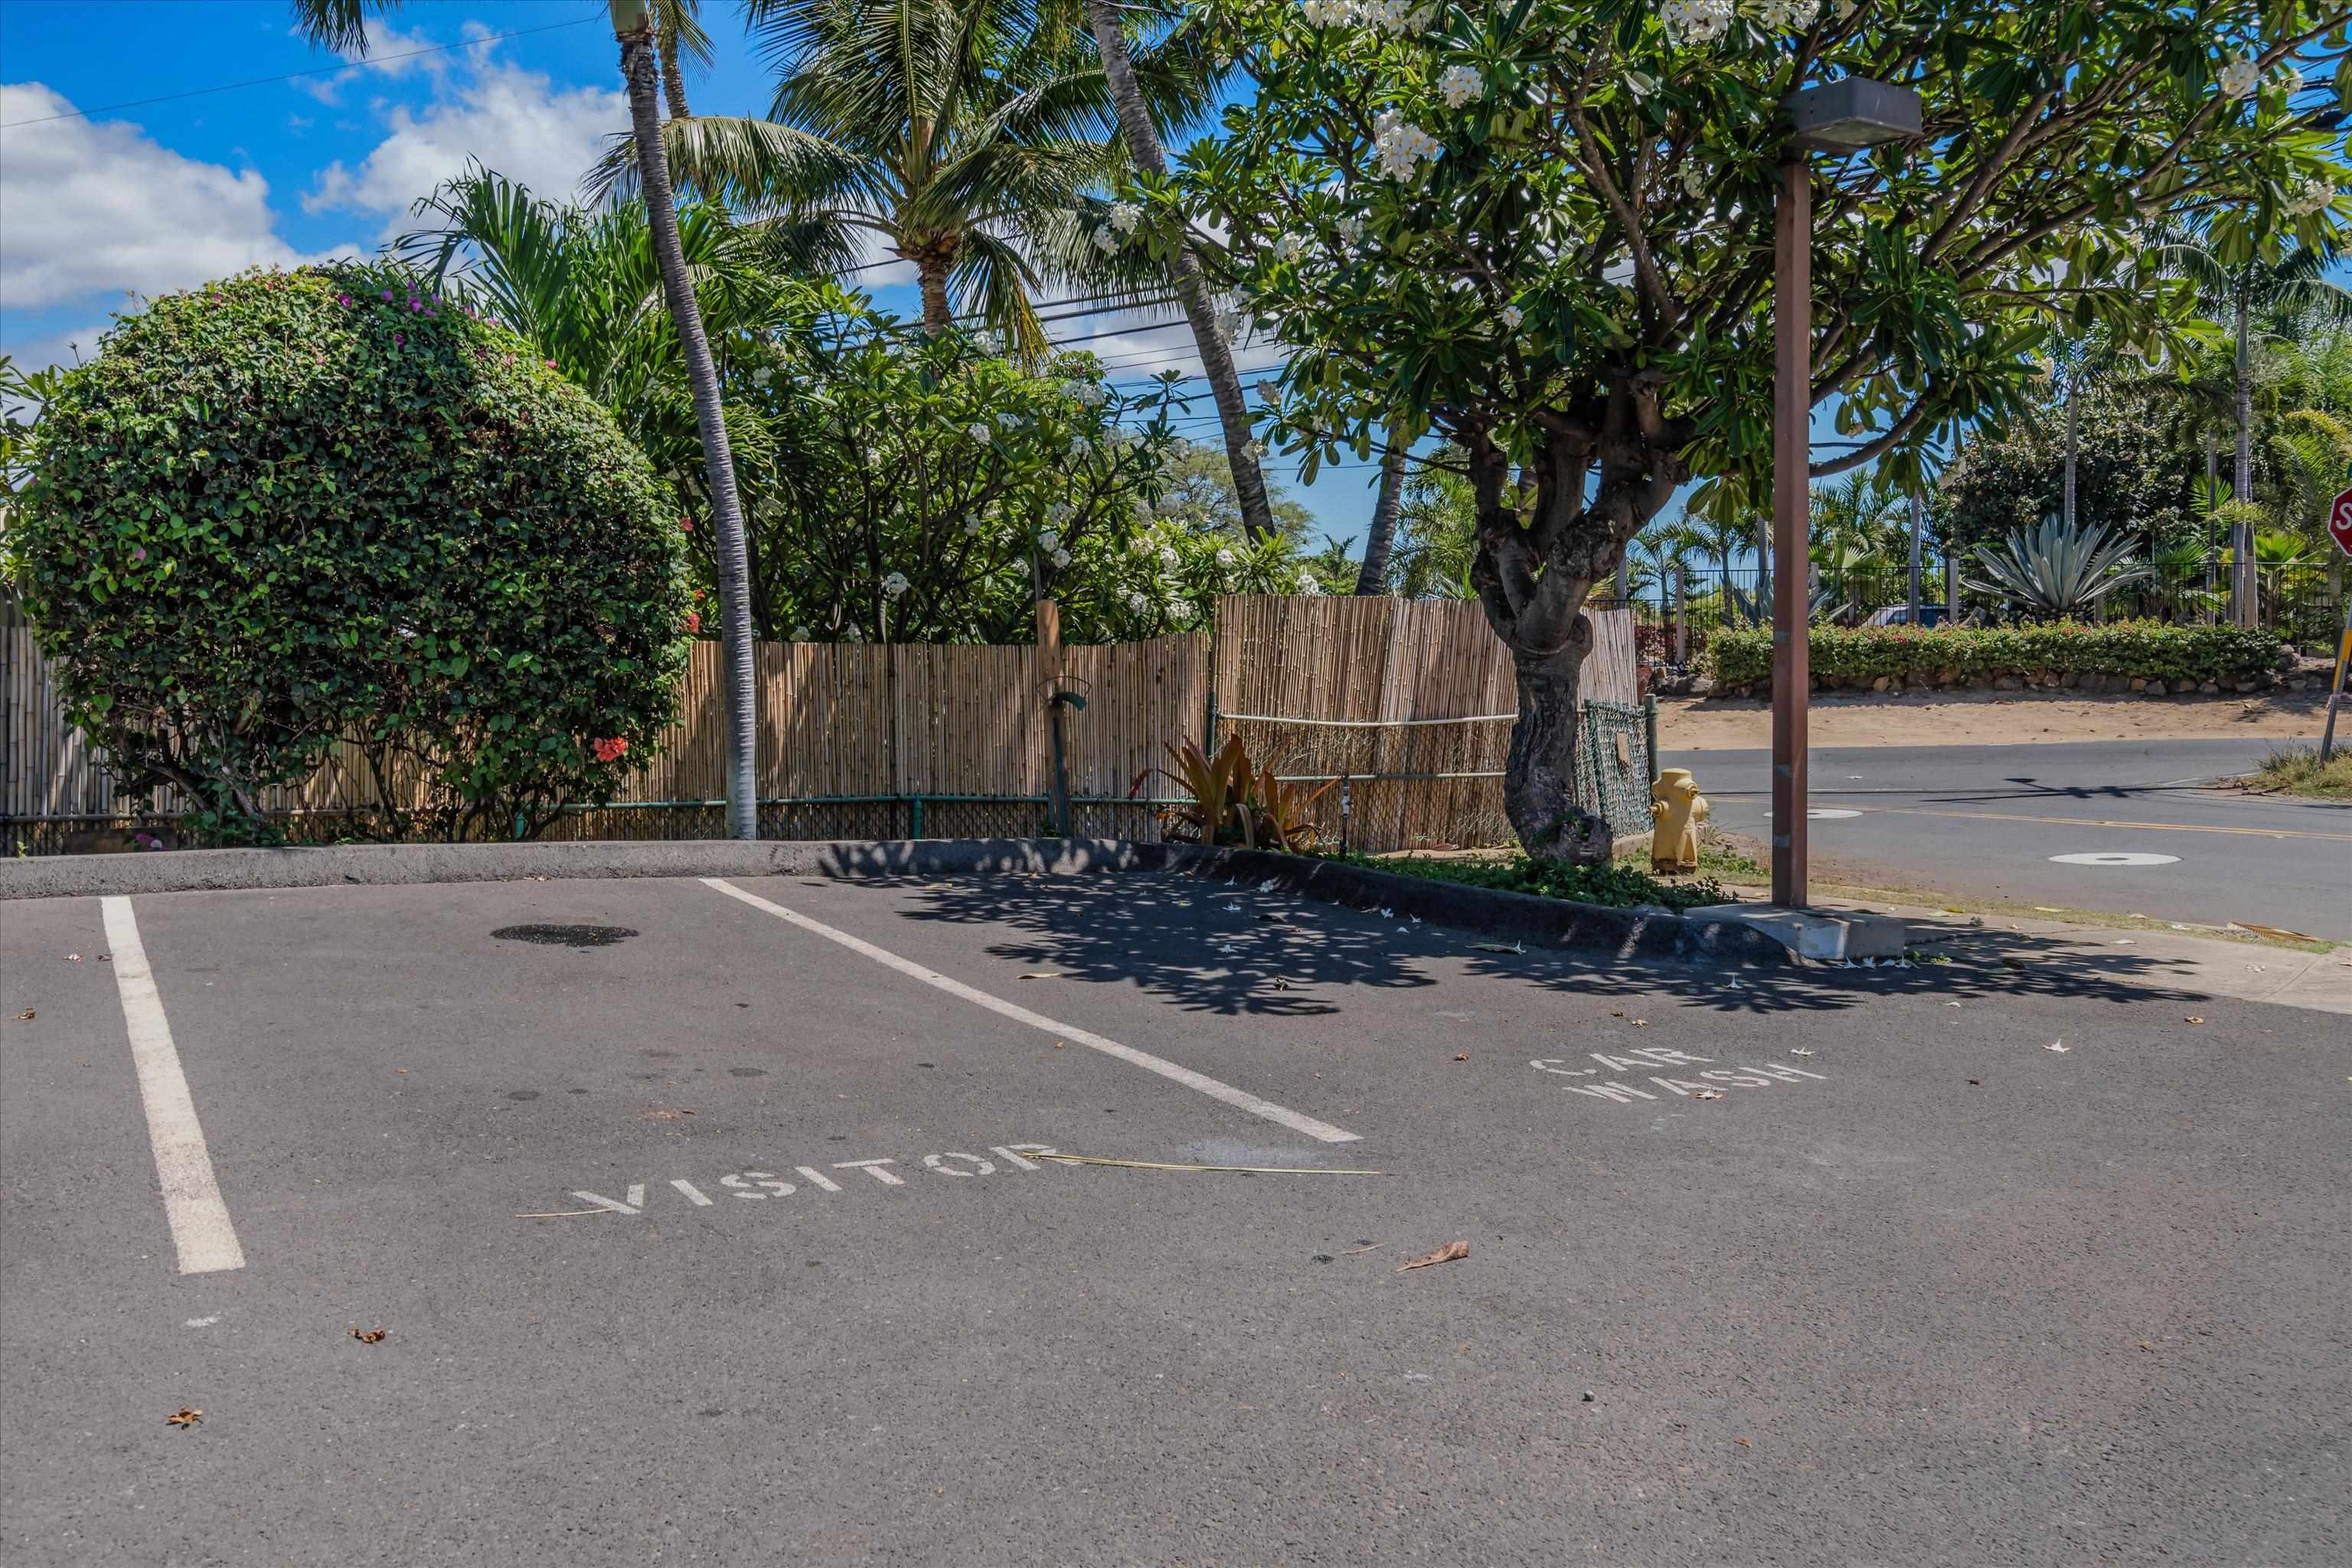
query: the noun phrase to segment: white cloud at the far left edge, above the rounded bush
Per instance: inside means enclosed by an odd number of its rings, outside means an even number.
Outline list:
[[[0,85],[0,120],[71,113],[40,82]],[[52,120],[0,134],[0,306],[162,294],[315,261],[278,237],[270,188],[158,146],[136,125]],[[85,343],[87,348],[87,343]]]

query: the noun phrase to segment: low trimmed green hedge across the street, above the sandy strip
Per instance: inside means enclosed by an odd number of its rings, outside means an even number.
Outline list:
[[[2281,649],[2277,632],[2157,621],[1938,630],[1816,625],[1809,658],[1816,679],[1867,682],[1884,675],[1924,686],[1945,684],[1952,675],[1964,684],[1987,684],[2004,675],[2105,675],[2178,686],[2265,679]],[[1705,658],[1717,686],[1769,684],[1771,628],[1717,632]]]

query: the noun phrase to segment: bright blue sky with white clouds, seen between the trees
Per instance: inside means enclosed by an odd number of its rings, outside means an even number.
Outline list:
[[[706,14],[720,59],[689,80],[694,110],[762,113],[769,75],[736,7]],[[315,75],[242,85],[296,71]],[[99,113],[56,118],[68,110]],[[49,364],[71,362],[71,343],[89,355],[129,294],[374,249],[468,155],[564,195],[628,108],[604,0],[412,2],[379,26],[367,63],[310,49],[282,0],[0,0],[0,353]],[[901,273],[861,282],[915,315]],[[1129,374],[1152,360],[1190,371],[1188,346],[1181,327],[1089,343]],[[1192,414],[1214,440],[1207,397]],[[1355,536],[1374,482],[1345,468],[1294,494],[1324,531]]]

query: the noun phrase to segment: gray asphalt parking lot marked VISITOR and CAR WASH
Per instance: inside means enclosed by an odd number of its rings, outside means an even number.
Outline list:
[[[2352,1552],[2343,1018],[736,886],[0,905],[0,1554]]]

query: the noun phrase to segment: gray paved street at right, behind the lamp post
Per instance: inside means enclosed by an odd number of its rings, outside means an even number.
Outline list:
[[[1910,745],[1813,752],[1818,879],[2352,940],[2352,806],[2206,788],[2265,741]],[[1766,839],[1771,755],[1668,752],[1731,832]],[[2051,856],[2169,856],[2067,865]]]

